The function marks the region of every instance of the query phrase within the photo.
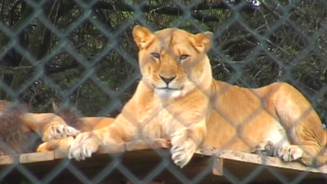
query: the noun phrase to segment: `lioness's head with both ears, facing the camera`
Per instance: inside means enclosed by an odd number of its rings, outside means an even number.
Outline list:
[[[135,26],[133,36],[139,46],[143,82],[163,98],[184,96],[210,76],[206,55],[212,33],[196,35],[177,28],[152,33]],[[210,80],[210,79],[209,79]]]

